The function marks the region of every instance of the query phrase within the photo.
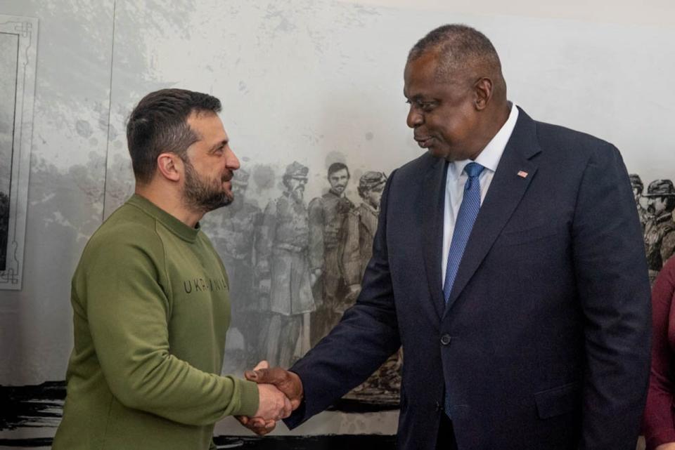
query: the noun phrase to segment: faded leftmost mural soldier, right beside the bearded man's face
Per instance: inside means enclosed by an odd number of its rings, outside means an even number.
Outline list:
[[[250,173],[240,168],[232,178],[234,200],[228,208],[212,213],[219,223],[212,241],[227,269],[232,305],[231,324],[244,341],[247,366],[255,365],[265,355],[259,352],[260,302],[255,283],[255,237],[262,223],[262,211],[246,201]]]

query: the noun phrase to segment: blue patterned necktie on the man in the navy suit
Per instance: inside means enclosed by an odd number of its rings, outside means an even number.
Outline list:
[[[446,305],[448,304],[450,291],[452,291],[452,285],[457,276],[459,263],[464,254],[464,248],[469,240],[473,223],[476,221],[476,216],[478,216],[478,210],[480,209],[480,181],[478,177],[483,169],[484,167],[477,162],[470,162],[464,167],[464,171],[469,178],[467,178],[464,184],[464,197],[462,204],[459,206],[455,230],[452,233],[452,241],[450,242],[450,251],[448,252],[445,282],[443,283],[443,295]]]

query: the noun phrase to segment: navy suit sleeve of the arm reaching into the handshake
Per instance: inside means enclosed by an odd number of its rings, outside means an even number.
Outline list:
[[[359,298],[333,331],[290,369],[302,380],[304,401],[285,419],[289,428],[328,408],[401,346],[387,252],[387,202],[394,174],[383,192],[373,258]]]

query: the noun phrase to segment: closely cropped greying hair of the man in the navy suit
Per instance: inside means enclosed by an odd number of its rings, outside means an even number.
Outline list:
[[[477,29],[466,25],[442,25],[420,39],[408,54],[408,62],[422,55],[435,55],[439,81],[454,81],[468,77],[471,81],[488,78],[492,81],[494,97],[506,102],[506,81],[494,46]]]

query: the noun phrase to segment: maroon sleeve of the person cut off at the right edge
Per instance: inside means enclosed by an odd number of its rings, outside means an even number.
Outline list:
[[[675,442],[673,415],[673,350],[668,340],[671,308],[675,296],[675,260],[664,265],[654,283],[652,299],[653,345],[643,432],[647,448]]]

